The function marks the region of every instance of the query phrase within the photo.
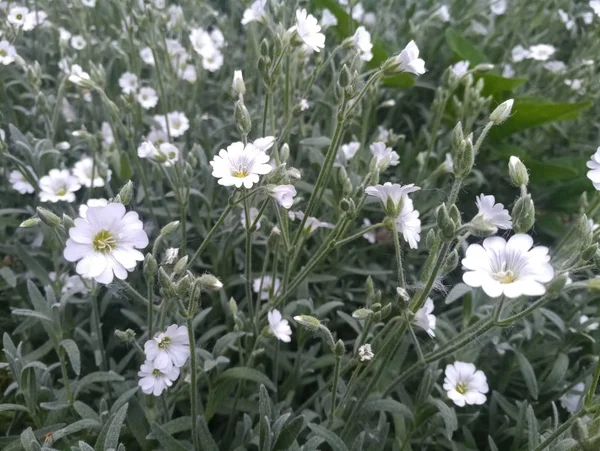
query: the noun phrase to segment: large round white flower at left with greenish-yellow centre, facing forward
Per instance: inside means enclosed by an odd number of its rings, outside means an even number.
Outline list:
[[[127,278],[144,254],[137,249],[148,246],[144,224],[134,211],[111,203],[104,207],[88,207],[85,218],[75,219],[69,229],[64,257],[76,262],[76,271],[96,282],[109,284],[114,276]]]

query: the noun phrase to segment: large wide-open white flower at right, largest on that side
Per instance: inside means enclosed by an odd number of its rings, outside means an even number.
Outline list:
[[[462,260],[466,269],[463,281],[481,287],[492,298],[543,295],[543,284],[552,280],[554,269],[548,248],[532,246],[533,239],[524,233],[513,235],[508,242],[494,236],[483,240],[483,246],[471,244]]]

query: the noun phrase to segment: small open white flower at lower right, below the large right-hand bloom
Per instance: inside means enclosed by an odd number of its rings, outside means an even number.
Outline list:
[[[459,407],[465,404],[483,404],[486,401],[485,393],[489,391],[487,379],[481,370],[477,370],[472,363],[454,362],[446,366],[444,390],[448,398]]]

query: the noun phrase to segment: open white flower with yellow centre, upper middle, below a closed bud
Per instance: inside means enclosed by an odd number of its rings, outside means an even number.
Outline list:
[[[254,144],[244,146],[235,142],[221,149],[210,162],[212,175],[218,178],[219,185],[250,189],[258,183],[259,175],[268,174],[273,167],[269,164],[269,156]]]

